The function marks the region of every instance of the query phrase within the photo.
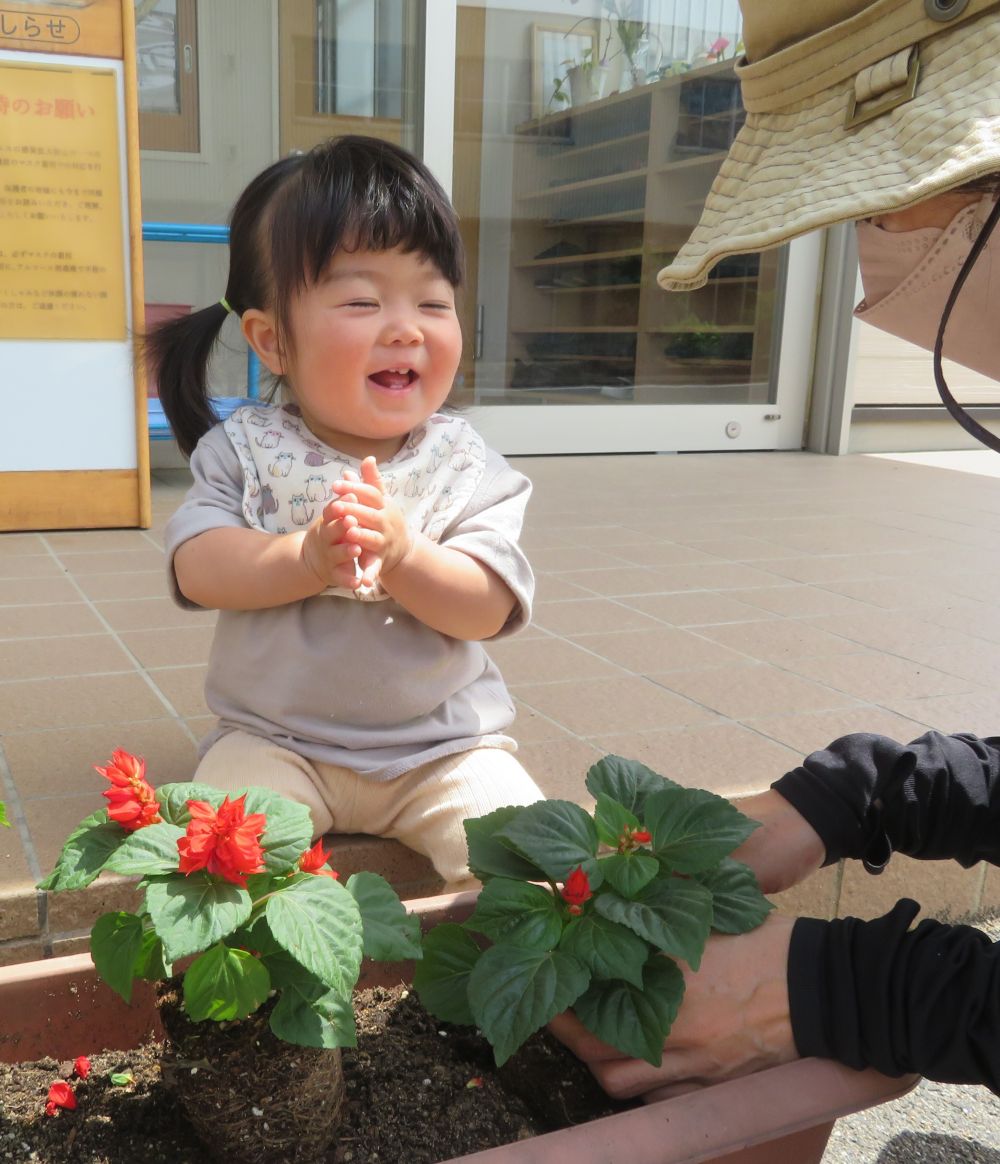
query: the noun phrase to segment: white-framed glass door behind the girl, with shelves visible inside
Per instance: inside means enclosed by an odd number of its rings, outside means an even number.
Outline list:
[[[698,27],[602,7],[427,5],[428,52],[455,45],[424,156],[469,250],[456,400],[508,454],[800,448],[820,240],[655,283],[743,120],[736,0],[683,6]]]

